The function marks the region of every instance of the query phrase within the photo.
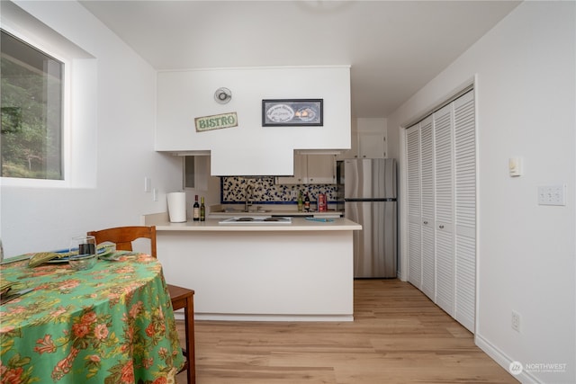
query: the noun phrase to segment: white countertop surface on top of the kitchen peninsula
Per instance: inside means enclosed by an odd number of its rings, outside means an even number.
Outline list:
[[[259,216],[259,215],[252,215]],[[304,218],[292,218],[291,224],[220,224],[219,219],[206,221],[188,220],[184,223],[171,223],[167,213],[142,216],[142,224],[156,226],[157,231],[218,231],[218,232],[274,232],[274,231],[347,231],[361,230],[362,226],[350,219],[337,218],[333,221],[312,221]]]

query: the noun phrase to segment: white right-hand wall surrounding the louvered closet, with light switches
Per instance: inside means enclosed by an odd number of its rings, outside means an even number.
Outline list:
[[[522,382],[576,382],[575,8],[520,4],[388,119],[390,156],[402,159],[402,126],[475,78],[476,343],[507,370],[522,363]],[[508,174],[512,156],[524,159],[521,177]],[[538,185],[562,183],[566,206],[536,204]],[[401,233],[405,212],[402,206]],[[405,237],[401,245],[406,277]],[[519,333],[510,326],[512,310],[521,316]],[[559,371],[528,365],[548,363],[561,364]]]

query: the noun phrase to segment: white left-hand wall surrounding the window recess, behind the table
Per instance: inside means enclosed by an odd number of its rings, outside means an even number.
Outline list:
[[[76,2],[17,4],[95,58],[97,81],[86,79],[97,85],[86,90],[92,123],[71,128],[95,137],[96,154],[89,187],[0,185],[5,255],[66,247],[75,234],[139,224],[141,214],[166,211],[166,192],[182,188],[181,159],[154,151],[156,71]],[[158,201],[144,192],[145,176]]]

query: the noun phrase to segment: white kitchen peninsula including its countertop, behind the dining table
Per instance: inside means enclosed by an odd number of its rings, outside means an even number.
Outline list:
[[[290,224],[220,220],[142,217],[142,224],[157,228],[166,281],[195,290],[196,319],[353,320],[352,234],[362,229],[359,224],[344,218],[292,218]]]

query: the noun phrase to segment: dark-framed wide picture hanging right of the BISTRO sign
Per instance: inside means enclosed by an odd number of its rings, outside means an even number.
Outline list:
[[[323,124],[323,99],[262,101],[263,127],[319,126]]]

